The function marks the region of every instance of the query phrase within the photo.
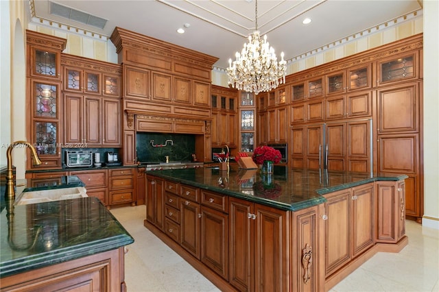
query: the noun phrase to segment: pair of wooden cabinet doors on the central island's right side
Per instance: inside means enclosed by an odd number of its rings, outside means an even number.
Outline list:
[[[325,274],[345,266],[374,245],[375,193],[374,184],[365,184],[324,195]],[[337,240],[334,240],[337,239]]]

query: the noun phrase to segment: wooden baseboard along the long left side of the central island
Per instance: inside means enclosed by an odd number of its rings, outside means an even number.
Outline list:
[[[218,273],[212,271],[206,265],[204,265],[200,260],[194,258],[192,254],[187,252],[183,247],[181,247],[178,243],[176,243],[173,239],[171,239],[167,234],[163,233],[162,230],[156,228],[152,223],[148,222],[146,219],[143,221],[143,225],[145,228],[150,230],[154,235],[161,239],[163,243],[165,243],[171,250],[174,250],[179,256],[184,258],[189,265],[194,267],[197,271],[199,271],[204,277],[206,277],[209,281],[211,281],[219,290],[221,291],[236,291],[236,288],[230,285],[228,282],[224,280]]]

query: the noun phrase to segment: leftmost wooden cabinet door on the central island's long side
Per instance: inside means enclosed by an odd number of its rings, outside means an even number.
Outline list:
[[[160,230],[165,224],[164,186],[163,179],[146,175],[146,219]]]

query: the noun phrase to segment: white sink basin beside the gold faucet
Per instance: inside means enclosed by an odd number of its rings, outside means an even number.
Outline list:
[[[54,202],[62,199],[77,199],[88,197],[86,188],[78,186],[75,188],[55,188],[52,190],[23,192],[16,199],[16,205],[37,204],[43,202]]]

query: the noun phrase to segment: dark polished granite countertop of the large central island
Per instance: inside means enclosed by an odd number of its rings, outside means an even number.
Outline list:
[[[371,173],[280,168],[278,171],[275,169],[274,175],[262,175],[257,169],[239,169],[232,165],[229,171],[204,167],[147,171],[147,174],[291,211],[326,202],[323,197],[326,193],[377,180],[398,181],[407,178],[407,175],[379,176]]]

